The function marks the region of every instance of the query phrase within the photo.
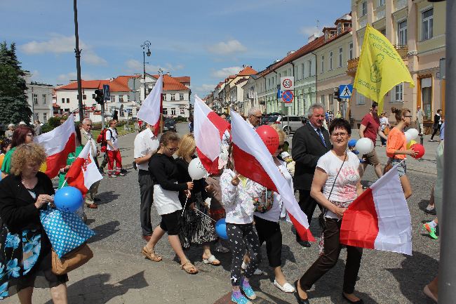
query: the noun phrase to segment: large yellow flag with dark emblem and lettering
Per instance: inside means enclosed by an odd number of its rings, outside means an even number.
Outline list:
[[[367,25],[353,87],[358,93],[376,101],[378,112],[382,112],[384,95],[401,82],[415,86],[407,66],[391,42],[377,29]]]

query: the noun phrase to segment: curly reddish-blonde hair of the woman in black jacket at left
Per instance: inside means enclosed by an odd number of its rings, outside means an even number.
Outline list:
[[[11,174],[20,176],[25,165],[41,165],[44,161],[46,161],[46,153],[41,145],[36,143],[18,145],[11,157]]]

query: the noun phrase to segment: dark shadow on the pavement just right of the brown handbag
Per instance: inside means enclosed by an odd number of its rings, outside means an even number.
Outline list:
[[[138,272],[136,275],[127,277],[119,282],[108,283],[110,278],[111,275],[104,273],[91,275],[71,284],[68,286],[69,302],[72,302],[72,298],[81,299],[82,297],[85,303],[107,303],[112,298],[127,293],[130,289],[142,289],[149,286],[144,277],[144,271]],[[49,300],[46,304],[53,304],[53,301]]]

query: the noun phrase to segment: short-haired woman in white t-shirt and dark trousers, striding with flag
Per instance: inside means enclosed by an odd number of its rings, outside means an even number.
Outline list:
[[[307,291],[318,279],[335,266],[342,245],[339,241],[342,216],[352,201],[363,192],[359,174],[359,159],[356,154],[347,152],[351,127],[345,119],[334,119],[329,126],[333,149],[323,154],[316,164],[310,194],[323,206],[323,251],[301,279],[295,282],[298,303],[309,303]],[[363,300],[354,295],[356,277],[361,265],[363,249],[347,246],[344,285],[342,297],[349,303],[362,304]]]

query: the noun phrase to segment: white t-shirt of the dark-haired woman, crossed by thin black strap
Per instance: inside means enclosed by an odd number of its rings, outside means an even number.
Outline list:
[[[351,202],[358,197],[356,193],[356,185],[358,181],[361,180],[359,176],[359,159],[354,153],[347,152],[347,159],[342,166],[342,159],[338,158],[332,150],[323,154],[316,166],[323,169],[328,174],[328,179],[326,180],[325,185],[323,186],[323,195],[328,198],[331,192],[331,188],[334,188],[329,197],[330,201],[340,201],[340,202]],[[342,168],[340,168],[342,166]],[[337,172],[340,173],[337,176]],[[335,177],[337,176],[337,180]],[[335,182],[334,182],[335,181]],[[326,212],[327,218],[338,218],[333,212]]]

